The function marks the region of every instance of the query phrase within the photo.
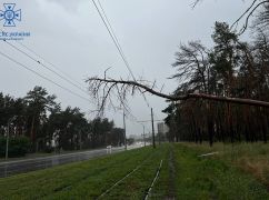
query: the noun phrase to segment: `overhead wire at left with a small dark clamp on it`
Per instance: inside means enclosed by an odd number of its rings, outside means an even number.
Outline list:
[[[66,77],[61,76],[60,73],[58,73],[57,71],[54,71],[53,69],[49,68],[48,66],[43,64],[40,60],[34,59],[33,57],[31,57],[30,54],[28,54],[27,52],[22,51],[21,49],[17,48],[14,44],[8,42],[7,40],[3,40],[7,44],[9,44],[11,48],[16,49],[17,51],[21,52],[22,54],[24,54],[26,57],[28,57],[29,59],[31,59],[32,61],[37,62],[38,64],[40,64],[41,67],[46,68],[47,70],[49,70],[50,72],[57,74],[58,77],[60,77],[62,80],[67,81],[68,83],[72,84],[73,87],[76,87],[77,89],[81,90],[82,92],[84,92],[86,94],[88,94],[88,92],[86,90],[83,90],[82,88],[80,88],[79,86],[74,84],[72,81],[70,81],[69,79],[67,79]]]

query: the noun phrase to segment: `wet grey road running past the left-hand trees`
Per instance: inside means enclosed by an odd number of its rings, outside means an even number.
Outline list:
[[[112,148],[111,153],[123,151],[124,148]],[[56,154],[46,158],[26,159],[17,161],[0,162],[0,178],[17,173],[36,171],[39,169],[51,168],[64,163],[88,160],[110,153],[107,149],[90,150],[83,152]]]

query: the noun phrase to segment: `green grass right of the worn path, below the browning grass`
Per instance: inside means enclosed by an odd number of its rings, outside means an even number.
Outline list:
[[[269,199],[266,187],[221,160],[198,158],[190,148],[176,147],[178,199]]]

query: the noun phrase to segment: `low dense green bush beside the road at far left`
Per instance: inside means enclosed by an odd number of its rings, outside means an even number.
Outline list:
[[[6,156],[6,138],[0,138],[0,157]],[[27,137],[9,139],[9,157],[23,157],[30,149],[30,140]]]

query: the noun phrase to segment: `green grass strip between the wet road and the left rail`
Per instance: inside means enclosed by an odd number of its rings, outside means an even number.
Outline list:
[[[151,153],[145,148],[0,179],[0,199],[94,199]]]

